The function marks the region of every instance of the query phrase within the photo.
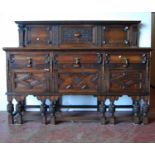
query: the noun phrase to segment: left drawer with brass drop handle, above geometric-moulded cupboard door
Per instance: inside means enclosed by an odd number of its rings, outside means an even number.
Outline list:
[[[48,54],[41,53],[18,53],[10,54],[9,67],[11,69],[41,69],[48,70],[50,57]]]

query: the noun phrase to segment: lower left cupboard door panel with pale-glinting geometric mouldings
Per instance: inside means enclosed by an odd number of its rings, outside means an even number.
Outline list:
[[[12,84],[15,92],[43,93],[49,91],[48,75],[41,71],[15,71]]]

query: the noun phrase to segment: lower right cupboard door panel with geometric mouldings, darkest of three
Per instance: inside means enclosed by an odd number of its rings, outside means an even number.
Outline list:
[[[145,71],[109,71],[109,92],[115,93],[138,93],[144,92],[145,87]]]

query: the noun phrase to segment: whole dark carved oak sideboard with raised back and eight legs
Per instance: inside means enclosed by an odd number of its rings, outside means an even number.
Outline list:
[[[135,123],[148,123],[151,49],[138,47],[140,21],[16,23],[19,47],[3,48],[9,123],[23,123],[28,95],[41,100],[45,124],[56,124],[56,112],[65,108],[60,103],[62,95],[97,96],[93,108],[101,112],[102,124],[116,123],[116,108],[132,108]],[[122,95],[132,97],[133,105],[116,106],[114,101]],[[46,105],[47,99],[51,105]],[[106,99],[110,100],[108,106]],[[109,118],[106,113],[110,113]]]

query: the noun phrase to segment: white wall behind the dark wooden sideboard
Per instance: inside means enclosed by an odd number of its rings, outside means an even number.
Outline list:
[[[150,12],[104,12],[102,7],[98,5],[95,9],[94,4],[90,8],[84,8],[81,4],[72,2],[74,7],[64,7],[60,5],[60,0],[55,3],[48,3],[46,9],[40,3],[33,1],[18,1],[16,10],[14,8],[17,2],[8,0],[1,5],[0,8],[0,110],[6,110],[6,66],[5,66],[5,52],[2,47],[17,47],[18,46],[18,31],[14,23],[15,20],[141,20],[142,27],[140,30],[140,46],[150,47],[151,45],[151,13]],[[17,0],[16,0],[17,1]],[[98,0],[97,0],[98,1]],[[62,1],[61,1],[62,2]],[[75,2],[75,1],[74,1]],[[96,1],[95,1],[96,2]],[[54,4],[54,5],[53,5]],[[33,7],[30,7],[32,5]],[[21,6],[24,6],[21,7]],[[66,5],[67,6],[67,5]],[[76,7],[75,7],[76,6]],[[81,7],[82,6],[82,7]],[[79,8],[81,7],[81,8]],[[92,9],[92,7],[94,7]],[[117,104],[131,103],[131,99],[127,96],[122,97]],[[96,104],[96,98],[90,96],[64,96],[63,102],[65,104]],[[29,104],[40,104],[36,98],[30,96],[28,98]],[[107,101],[108,103],[108,101]]]

